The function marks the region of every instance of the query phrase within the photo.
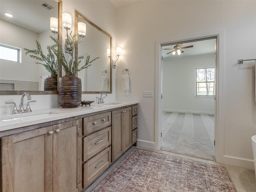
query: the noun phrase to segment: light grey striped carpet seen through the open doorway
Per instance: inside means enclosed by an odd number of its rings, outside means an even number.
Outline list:
[[[161,150],[214,158],[214,115],[164,112]]]

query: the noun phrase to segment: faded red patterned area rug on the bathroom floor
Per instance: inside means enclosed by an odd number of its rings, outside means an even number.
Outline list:
[[[226,168],[135,148],[92,192],[236,192]]]

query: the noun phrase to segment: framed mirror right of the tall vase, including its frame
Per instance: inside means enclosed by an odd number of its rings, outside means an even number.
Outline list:
[[[81,38],[78,35],[78,22],[86,24],[86,35]],[[80,65],[84,65],[84,60],[90,56],[90,60],[100,57],[92,62],[87,69],[78,72],[77,76],[82,80],[82,93],[112,93],[112,66],[111,49],[112,36],[96,26],[82,14],[75,11],[75,34],[78,41],[76,56],[81,60]],[[107,55],[110,49],[110,55]]]

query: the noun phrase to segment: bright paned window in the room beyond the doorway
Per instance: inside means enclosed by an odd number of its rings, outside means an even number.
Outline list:
[[[196,96],[214,96],[215,68],[196,69]]]

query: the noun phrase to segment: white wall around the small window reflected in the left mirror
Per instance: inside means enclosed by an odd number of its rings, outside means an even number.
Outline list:
[[[0,79],[38,82],[38,64],[35,64],[35,59],[25,55],[23,50],[23,48],[36,48],[35,40],[38,39],[38,34],[4,20],[0,20],[0,26],[0,42],[21,48],[22,52],[21,63],[0,61]]]

